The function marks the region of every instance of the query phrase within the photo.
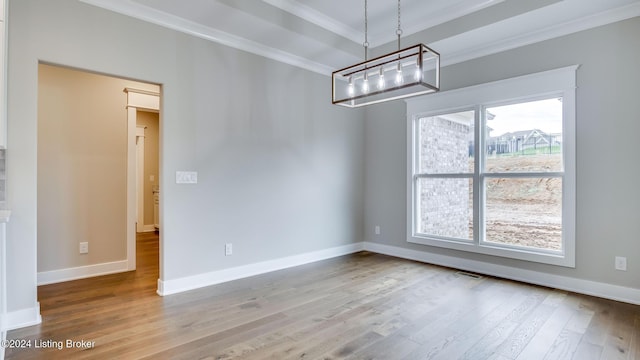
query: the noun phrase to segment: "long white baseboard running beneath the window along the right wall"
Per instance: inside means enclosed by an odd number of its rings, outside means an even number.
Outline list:
[[[640,289],[365,242],[367,251],[640,305]]]

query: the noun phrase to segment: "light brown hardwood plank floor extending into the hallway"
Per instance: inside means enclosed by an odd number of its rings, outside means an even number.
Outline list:
[[[41,286],[6,358],[640,359],[640,306],[368,252],[160,297],[157,236],[137,249],[135,272]]]

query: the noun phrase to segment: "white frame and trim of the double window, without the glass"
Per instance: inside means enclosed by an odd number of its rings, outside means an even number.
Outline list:
[[[429,96],[406,100],[407,103],[407,241],[410,243],[437,246],[480,254],[494,255],[552,264],[575,267],[575,212],[576,212],[576,73],[579,65],[563,67],[470,86],[466,88],[444,91]],[[563,173],[562,173],[562,250],[550,251],[494,244],[480,239],[480,231],[484,227],[483,210],[479,208],[479,196],[483,186],[484,175],[479,171],[481,144],[480,129],[484,129],[484,110],[497,104],[528,102],[537,99],[562,97],[563,111]],[[415,184],[418,177],[418,121],[425,116],[443,113],[475,110],[475,171],[473,174],[474,231],[473,241],[456,241],[416,233],[415,214],[417,201]],[[534,176],[539,174],[534,174]]]

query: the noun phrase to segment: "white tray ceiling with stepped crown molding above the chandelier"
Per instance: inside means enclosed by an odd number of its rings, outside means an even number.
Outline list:
[[[364,0],[80,0],[322,74],[364,58]],[[368,0],[371,54],[397,49],[397,0]],[[443,66],[640,16],[640,0],[402,0],[402,46]]]

